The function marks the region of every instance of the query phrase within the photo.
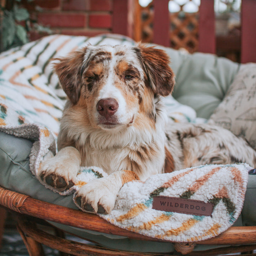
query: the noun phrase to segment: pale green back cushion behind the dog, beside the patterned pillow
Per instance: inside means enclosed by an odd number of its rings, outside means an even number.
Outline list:
[[[239,64],[206,53],[184,53],[167,47],[171,68],[176,75],[174,98],[197,112],[197,117],[209,118],[223,100]]]

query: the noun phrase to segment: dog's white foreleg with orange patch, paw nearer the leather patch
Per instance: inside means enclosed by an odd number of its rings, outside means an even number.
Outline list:
[[[78,207],[85,212],[110,213],[114,208],[116,197],[129,181],[139,180],[133,171],[116,171],[107,177],[99,178],[82,186],[74,196]]]

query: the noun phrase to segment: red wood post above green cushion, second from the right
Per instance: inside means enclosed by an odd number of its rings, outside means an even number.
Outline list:
[[[214,0],[201,0],[198,34],[199,52],[216,53]]]

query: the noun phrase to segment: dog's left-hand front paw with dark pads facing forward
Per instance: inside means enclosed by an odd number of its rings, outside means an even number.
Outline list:
[[[73,187],[81,161],[80,154],[78,155],[75,150],[68,147],[53,158],[44,160],[38,178],[58,191]]]

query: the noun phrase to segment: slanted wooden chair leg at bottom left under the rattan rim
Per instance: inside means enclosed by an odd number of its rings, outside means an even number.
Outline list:
[[[20,233],[22,240],[27,247],[28,254],[30,256],[44,256],[42,244],[30,238],[29,236],[26,236],[18,224],[17,230]]]

